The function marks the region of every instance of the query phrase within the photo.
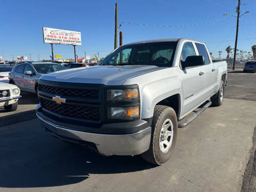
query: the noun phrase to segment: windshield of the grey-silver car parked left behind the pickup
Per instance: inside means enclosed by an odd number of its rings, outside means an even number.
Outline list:
[[[52,63],[45,63],[45,64],[34,64],[34,68],[36,69],[37,73],[39,74],[49,74],[55,71],[67,69],[60,64],[52,64]]]

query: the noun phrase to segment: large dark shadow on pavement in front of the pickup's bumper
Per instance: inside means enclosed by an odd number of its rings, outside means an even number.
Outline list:
[[[100,156],[87,147],[55,139],[38,125],[25,130],[19,127],[5,136],[0,134],[3,143],[0,187],[63,186],[81,182],[90,178],[90,174],[135,172],[155,167],[139,156]]]

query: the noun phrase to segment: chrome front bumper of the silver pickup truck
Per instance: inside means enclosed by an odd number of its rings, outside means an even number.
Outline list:
[[[70,130],[68,127],[60,127],[41,116],[44,129],[53,136],[71,142],[86,141],[94,143],[99,153],[105,156],[111,155],[139,155],[149,149],[151,139],[151,127],[132,134],[98,134]]]

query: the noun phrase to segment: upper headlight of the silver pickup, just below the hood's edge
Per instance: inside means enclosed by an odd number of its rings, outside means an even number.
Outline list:
[[[138,89],[107,90],[108,101],[131,100],[138,97]]]

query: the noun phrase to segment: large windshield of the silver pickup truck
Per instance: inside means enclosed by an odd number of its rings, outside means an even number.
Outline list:
[[[177,42],[125,45],[108,55],[99,65],[155,65],[171,67]]]

